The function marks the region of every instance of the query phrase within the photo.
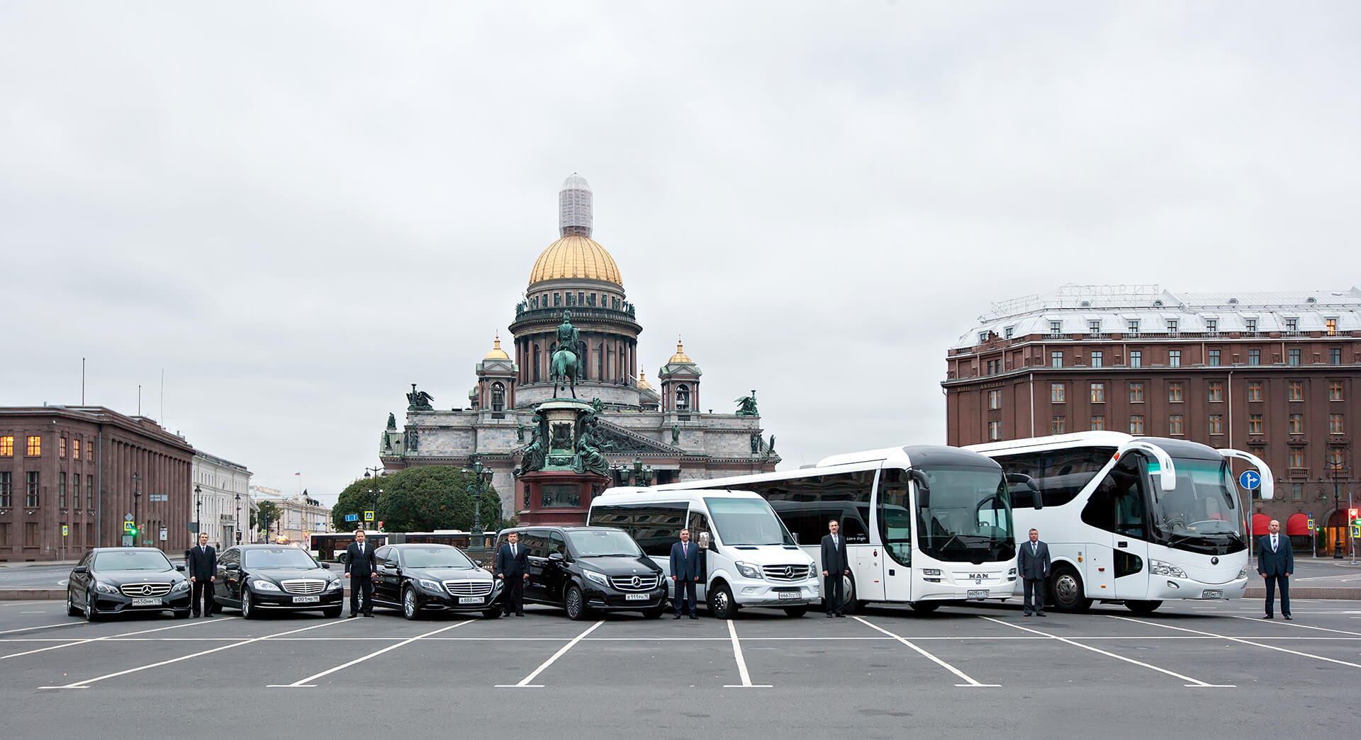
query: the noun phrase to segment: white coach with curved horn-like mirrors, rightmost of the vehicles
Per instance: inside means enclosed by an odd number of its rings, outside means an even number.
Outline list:
[[[1117,431],[968,449],[1000,462],[1009,479],[1032,479],[1034,488],[1013,486],[1017,539],[1034,528],[1048,543],[1056,608],[1123,601],[1147,613],[1168,599],[1243,597],[1249,552],[1228,458],[1255,467],[1262,498],[1271,498],[1271,471],[1258,457]]]

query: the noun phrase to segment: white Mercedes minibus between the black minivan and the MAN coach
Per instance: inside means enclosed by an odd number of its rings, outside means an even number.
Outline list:
[[[738,608],[777,607],[803,616],[818,601],[818,571],[780,524],[770,505],[747,491],[606,488],[591,501],[591,526],[618,526],[671,575],[671,545],[680,531],[705,548],[705,582],[695,597],[719,619]]]

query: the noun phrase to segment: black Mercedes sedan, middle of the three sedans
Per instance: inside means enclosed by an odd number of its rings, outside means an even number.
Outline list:
[[[336,618],[344,603],[344,584],[331,566],[317,563],[305,550],[284,544],[240,544],[218,556],[214,599],[256,619],[265,609],[321,611]]]

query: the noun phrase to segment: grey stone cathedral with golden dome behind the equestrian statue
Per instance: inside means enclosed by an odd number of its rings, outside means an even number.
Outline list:
[[[680,341],[657,371],[657,385],[646,380],[637,354],[642,325],[614,257],[591,238],[591,186],[573,174],[558,193],[559,238],[535,260],[524,299],[514,307],[509,325],[514,359],[497,337],[474,369],[476,385],[467,408],[434,408],[431,396],[444,393],[412,386],[404,428],[389,416],[378,442],[387,469],[468,468],[478,461],[493,472],[502,516],[521,510],[514,475],[531,441],[534,409],[555,396],[550,363],[563,314],[577,331],[573,350],[584,366],[576,397],[600,408],[596,431],[617,479],[640,467],[644,472],[632,483],[646,480],[648,469],[652,484],[774,469],[780,456],[774,438],[764,437],[754,390],[736,401],[706,401],[700,394],[700,366]],[[559,385],[557,396],[568,397],[569,390]],[[704,404],[738,408],[723,414]]]

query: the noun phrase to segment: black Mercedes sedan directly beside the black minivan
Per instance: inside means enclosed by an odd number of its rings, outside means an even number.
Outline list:
[[[501,582],[457,547],[391,544],[374,554],[373,604],[418,619],[427,612],[482,612],[501,616]]]

